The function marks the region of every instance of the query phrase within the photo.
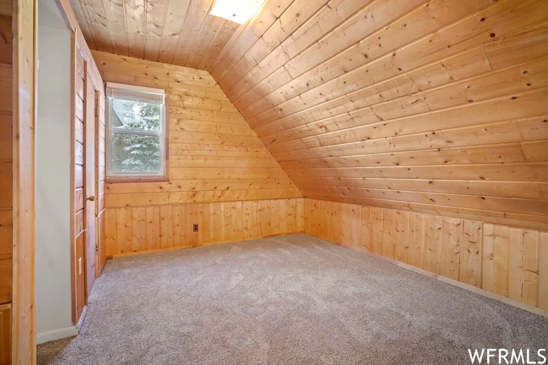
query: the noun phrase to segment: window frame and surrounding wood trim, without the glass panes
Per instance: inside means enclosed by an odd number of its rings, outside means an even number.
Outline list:
[[[169,107],[167,90],[162,88],[150,88],[147,86],[106,82],[106,90],[108,90],[108,88],[118,88],[122,90],[136,92],[151,92],[155,94],[162,94],[164,95],[164,103],[162,105],[162,108],[160,108],[160,172],[114,173],[112,171],[112,97],[105,98],[105,181],[108,183],[169,181],[169,127],[167,121],[167,110]],[[129,133],[125,134],[141,136],[153,135],[144,131],[140,131],[138,129],[129,129]]]

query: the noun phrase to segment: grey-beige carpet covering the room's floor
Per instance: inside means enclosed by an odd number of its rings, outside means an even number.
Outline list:
[[[547,344],[548,318],[299,234],[109,260],[82,333],[38,364],[471,364]]]

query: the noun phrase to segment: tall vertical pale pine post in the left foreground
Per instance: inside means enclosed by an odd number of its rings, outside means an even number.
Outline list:
[[[36,364],[34,310],[36,32],[38,1],[12,1],[12,364]]]

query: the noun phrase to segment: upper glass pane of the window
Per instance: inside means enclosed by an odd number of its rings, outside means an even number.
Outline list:
[[[112,99],[112,127],[159,131],[160,104]]]

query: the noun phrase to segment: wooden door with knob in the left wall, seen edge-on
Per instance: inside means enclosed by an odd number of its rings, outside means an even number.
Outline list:
[[[86,62],[87,66],[87,62]],[[84,121],[84,190],[86,238],[86,294],[89,297],[95,283],[95,90],[86,73],[86,118]]]

